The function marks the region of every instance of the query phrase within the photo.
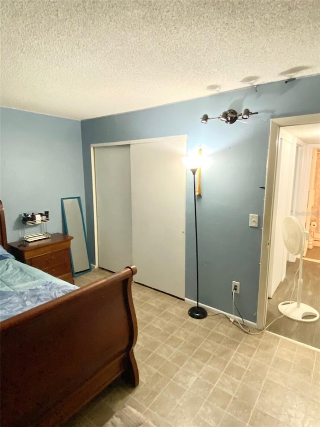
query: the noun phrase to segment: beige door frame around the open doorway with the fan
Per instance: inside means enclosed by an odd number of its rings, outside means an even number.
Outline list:
[[[257,301],[256,325],[263,329],[267,313],[267,278],[269,273],[270,240],[272,212],[274,203],[275,174],[277,166],[277,148],[280,128],[291,125],[307,125],[320,122],[320,113],[304,116],[282,117],[270,120],[269,145],[266,162],[263,226],[260,253],[259,290]]]

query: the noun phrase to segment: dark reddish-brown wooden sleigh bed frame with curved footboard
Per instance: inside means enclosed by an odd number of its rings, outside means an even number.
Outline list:
[[[135,273],[126,267],[0,322],[3,427],[61,425],[122,373],[137,386]]]

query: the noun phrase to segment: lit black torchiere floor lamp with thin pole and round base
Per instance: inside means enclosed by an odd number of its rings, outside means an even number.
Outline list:
[[[203,307],[199,307],[199,274],[198,274],[198,233],[196,222],[196,197],[195,197],[195,174],[201,166],[201,156],[184,157],[182,159],[184,165],[190,169],[193,175],[193,199],[194,199],[194,229],[195,229],[195,260],[196,260],[196,305],[189,308],[188,315],[193,319],[204,319],[207,312]]]

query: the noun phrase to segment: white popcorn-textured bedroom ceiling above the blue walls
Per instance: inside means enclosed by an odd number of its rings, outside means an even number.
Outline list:
[[[1,0],[1,105],[86,119],[320,73],[318,0]]]

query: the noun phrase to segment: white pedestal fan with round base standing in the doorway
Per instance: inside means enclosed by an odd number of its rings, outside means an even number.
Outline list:
[[[293,320],[300,322],[314,322],[318,320],[319,313],[312,307],[301,302],[302,293],[302,257],[305,246],[305,231],[302,225],[294,216],[287,216],[284,218],[282,224],[282,239],[286,249],[292,255],[300,254],[299,263],[299,279],[298,279],[298,293],[296,302],[283,301],[278,305],[280,313]],[[305,319],[305,316],[313,316]]]

